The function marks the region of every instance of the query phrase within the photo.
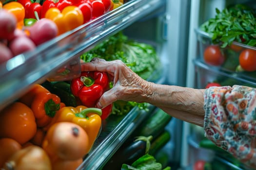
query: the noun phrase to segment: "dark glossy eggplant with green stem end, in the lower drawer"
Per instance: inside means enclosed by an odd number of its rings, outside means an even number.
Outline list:
[[[148,153],[152,136],[138,136],[128,145],[122,145],[104,165],[102,170],[120,170],[122,164],[131,165],[141,156]]]

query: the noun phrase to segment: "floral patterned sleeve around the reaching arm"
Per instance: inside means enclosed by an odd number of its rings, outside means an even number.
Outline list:
[[[256,89],[234,85],[204,93],[205,136],[256,168]]]

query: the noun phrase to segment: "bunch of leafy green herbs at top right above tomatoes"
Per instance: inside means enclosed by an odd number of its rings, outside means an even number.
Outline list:
[[[216,9],[216,16],[204,22],[200,29],[210,35],[213,43],[221,43],[222,47],[233,41],[256,46],[256,13],[243,5],[226,7],[222,11]]]

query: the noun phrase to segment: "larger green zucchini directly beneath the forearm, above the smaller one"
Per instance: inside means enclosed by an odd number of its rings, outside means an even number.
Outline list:
[[[135,130],[135,136],[153,136],[156,138],[164,131],[165,126],[171,119],[172,117],[170,115],[157,108],[156,112],[151,114],[150,117],[138,127],[138,130]]]

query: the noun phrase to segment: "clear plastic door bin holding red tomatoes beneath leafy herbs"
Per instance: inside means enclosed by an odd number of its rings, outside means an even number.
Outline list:
[[[245,64],[241,64],[239,62],[239,56],[244,56],[245,51],[250,51],[253,53],[253,56],[256,57],[255,47],[233,42],[232,45],[222,48],[221,44],[212,43],[212,39],[208,33],[199,29],[196,29],[195,31],[199,46],[199,59],[202,62],[215,69],[227,71],[230,74],[236,73],[244,79],[256,81],[256,64],[255,67],[253,67],[255,68],[254,70],[252,70],[252,68],[248,70],[248,63],[243,62]],[[212,54],[213,50],[215,50],[214,54]]]

